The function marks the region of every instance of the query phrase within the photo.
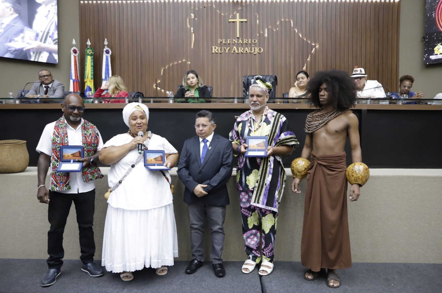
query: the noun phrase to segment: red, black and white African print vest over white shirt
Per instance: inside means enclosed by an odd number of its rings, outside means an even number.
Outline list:
[[[81,125],[81,136],[84,148],[84,156],[92,156],[98,148],[100,141],[99,132],[97,127],[91,122],[86,120]],[[68,145],[68,132],[66,130],[65,115],[61,116],[55,122],[54,132],[52,134],[52,177],[51,177],[51,190],[63,191],[71,189],[69,185],[69,173],[57,172],[58,164],[60,163],[60,147],[62,145]],[[103,178],[100,168],[97,163],[91,163],[87,167],[83,167],[81,170],[83,173],[84,182],[89,182],[94,179]]]

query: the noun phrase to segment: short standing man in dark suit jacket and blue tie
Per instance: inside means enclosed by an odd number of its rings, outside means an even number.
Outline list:
[[[191,226],[192,260],[186,268],[193,274],[203,261],[203,230],[207,215],[212,250],[210,257],[217,277],[225,276],[221,254],[224,245],[225,207],[229,204],[227,182],[232,176],[232,144],[213,133],[215,116],[207,110],[196,115],[197,136],[187,139],[178,163],[178,176],[186,186],[184,202],[188,204]]]

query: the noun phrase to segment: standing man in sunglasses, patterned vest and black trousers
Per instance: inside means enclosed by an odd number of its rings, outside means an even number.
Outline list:
[[[75,204],[78,230],[80,232],[80,260],[82,271],[92,277],[103,275],[101,267],[94,260],[95,241],[92,225],[95,210],[94,179],[103,178],[97,165],[103,139],[95,125],[82,118],[84,113],[82,98],[69,94],[61,104],[63,115],[55,122],[46,125],[37,145],[38,185],[37,199],[48,204],[48,270],[42,278],[42,286],[55,283],[63,265],[63,232],[72,201]],[[59,172],[62,154],[61,146],[77,145],[83,147],[84,157],[76,159],[83,162],[80,172]],[[51,168],[50,190],[46,188],[46,175]]]

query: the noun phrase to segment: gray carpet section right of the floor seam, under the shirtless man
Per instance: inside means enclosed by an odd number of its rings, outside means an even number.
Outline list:
[[[315,281],[303,277],[301,263],[275,262],[273,272],[261,278],[262,292],[271,293],[433,293],[442,292],[442,264],[427,263],[353,263],[338,270],[341,286],[327,287],[326,276]]]

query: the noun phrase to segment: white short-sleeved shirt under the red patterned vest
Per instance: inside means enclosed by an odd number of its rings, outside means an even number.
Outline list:
[[[83,118],[81,119],[80,125],[74,129],[66,122],[66,130],[68,133],[68,145],[83,145],[83,137],[81,135],[81,126],[83,125]],[[48,156],[52,156],[52,135],[54,132],[55,121],[49,123],[45,126],[43,130],[42,136],[40,137],[40,141],[38,141],[38,145],[36,148],[37,152],[43,152]],[[98,132],[99,134],[99,132]],[[99,142],[97,151],[103,148],[103,139],[101,135],[99,135]],[[52,176],[51,176],[52,181]],[[69,190],[58,190],[60,193],[84,193],[91,191],[95,188],[94,180],[89,182],[84,182],[83,173],[82,172],[69,172],[69,185],[71,185],[71,189]]]

